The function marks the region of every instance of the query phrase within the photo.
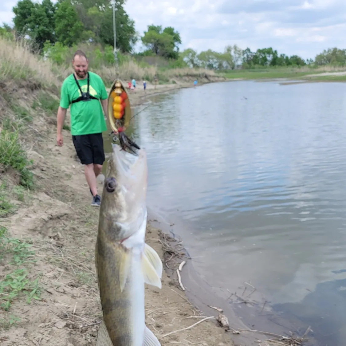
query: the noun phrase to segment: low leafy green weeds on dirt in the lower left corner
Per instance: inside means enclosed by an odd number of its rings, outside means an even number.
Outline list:
[[[6,262],[10,270],[0,280],[0,309],[9,312],[12,303],[21,297],[26,297],[27,304],[32,299],[40,299],[41,288],[39,278],[31,280],[27,265],[36,262],[32,245],[24,240],[8,236],[6,227],[0,226],[0,260]],[[8,316],[10,324],[17,321]],[[12,321],[12,323],[11,323]],[[1,324],[6,321],[2,321]]]

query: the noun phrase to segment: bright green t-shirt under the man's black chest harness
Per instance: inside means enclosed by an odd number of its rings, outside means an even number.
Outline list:
[[[101,100],[107,99],[108,94],[101,77],[96,73],[89,72],[89,78],[90,95]],[[88,90],[88,76],[77,81],[82,91],[86,92]],[[71,103],[80,96],[81,92],[73,74],[70,74],[61,86],[60,107],[67,109],[71,104],[71,135],[90,135],[106,131],[107,126],[100,101],[91,99],[90,101]]]

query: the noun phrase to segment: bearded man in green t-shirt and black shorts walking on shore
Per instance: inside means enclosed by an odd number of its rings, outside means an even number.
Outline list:
[[[99,75],[88,72],[88,59],[78,50],[72,59],[74,73],[61,86],[60,106],[57,113],[56,143],[63,145],[62,128],[66,111],[71,104],[71,135],[76,153],[84,165],[85,179],[93,196],[92,206],[100,206],[96,177],[105,160],[102,132],[107,130],[108,94]],[[100,102],[101,101],[101,102]],[[102,107],[101,107],[102,105]]]

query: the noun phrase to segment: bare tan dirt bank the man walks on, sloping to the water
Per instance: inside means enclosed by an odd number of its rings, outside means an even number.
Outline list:
[[[11,100],[32,118],[21,138],[34,160],[36,184],[21,188],[11,170],[0,176],[0,209],[7,211],[0,218],[0,344],[95,345],[102,317],[94,265],[99,210],[90,206],[69,131],[57,147],[51,103],[43,102],[39,86],[31,89],[3,85],[7,96],[0,100],[3,109]],[[160,234],[148,225],[146,241],[163,258]],[[162,345],[232,345],[215,320],[174,332],[201,318],[166,273],[162,283],[161,290],[147,286],[145,295],[146,323]]]

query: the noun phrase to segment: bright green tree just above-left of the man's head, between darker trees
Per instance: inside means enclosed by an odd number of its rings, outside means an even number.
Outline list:
[[[84,25],[69,0],[57,3],[54,20],[55,36],[58,42],[69,47],[79,42],[83,35]]]

